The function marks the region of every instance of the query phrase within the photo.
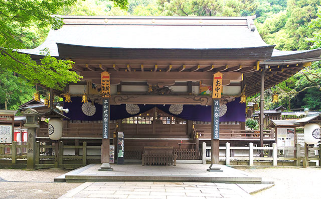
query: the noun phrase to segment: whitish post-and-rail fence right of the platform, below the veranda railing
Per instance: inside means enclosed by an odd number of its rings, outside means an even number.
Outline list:
[[[211,150],[211,147],[207,147],[206,143],[203,143],[203,156],[202,160],[203,163],[206,162],[206,160],[210,160],[210,153],[206,153],[207,150]],[[288,161],[292,162],[293,166],[300,166],[301,161],[302,165],[308,166],[309,161],[318,161],[319,166],[321,166],[321,144],[319,147],[308,147],[308,151],[318,151],[317,155],[309,155],[311,153],[308,153],[307,150],[304,152],[304,156],[301,156],[301,150],[304,149],[304,147],[301,147],[300,144],[296,144],[296,147],[277,147],[276,143],[273,143],[272,147],[255,147],[253,143],[249,143],[249,146],[244,147],[238,147],[238,146],[230,146],[230,143],[226,143],[226,146],[220,147],[220,150],[224,150],[225,154],[224,156],[221,156],[219,159],[225,161],[226,165],[232,165],[231,162],[237,162],[237,161],[247,161],[250,166],[253,165],[262,165],[262,164],[255,164],[259,161],[269,162],[270,165],[277,166],[278,163],[281,164],[281,161]],[[231,150],[243,150],[247,151],[246,156],[231,156]],[[278,155],[279,150],[292,150],[293,151],[293,157],[281,157],[281,155]],[[261,157],[258,153],[254,155],[254,151],[263,151],[263,157]],[[283,155],[284,156],[284,155]],[[237,164],[237,163],[236,163]]]

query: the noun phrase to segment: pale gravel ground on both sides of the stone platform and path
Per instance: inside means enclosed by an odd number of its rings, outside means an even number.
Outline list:
[[[253,194],[254,198],[320,198],[321,168],[240,169],[270,179],[275,186]],[[0,198],[58,198],[81,183],[54,182],[63,169],[0,169]]]

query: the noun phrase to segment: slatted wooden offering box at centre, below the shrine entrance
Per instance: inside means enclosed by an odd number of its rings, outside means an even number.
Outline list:
[[[176,166],[174,147],[145,146],[141,159],[142,165]]]

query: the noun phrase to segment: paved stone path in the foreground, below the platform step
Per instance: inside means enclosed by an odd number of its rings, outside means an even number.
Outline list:
[[[151,198],[214,199],[251,198],[248,190],[262,190],[273,184],[226,184],[214,182],[85,182],[59,199]]]

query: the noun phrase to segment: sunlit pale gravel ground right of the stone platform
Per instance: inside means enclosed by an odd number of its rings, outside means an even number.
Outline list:
[[[257,199],[271,198],[320,198],[321,168],[255,168],[240,169],[265,179],[275,185],[253,194]]]

